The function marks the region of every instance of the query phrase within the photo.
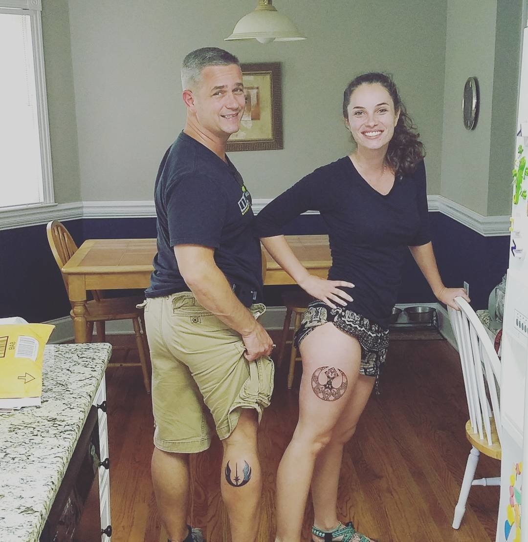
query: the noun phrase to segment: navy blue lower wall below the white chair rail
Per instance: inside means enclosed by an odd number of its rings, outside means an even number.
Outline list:
[[[429,216],[444,283],[461,286],[467,281],[473,307],[487,307],[489,292],[508,266],[509,237],[484,237],[440,212]],[[155,218],[91,218],[64,223],[78,245],[90,238],[156,236]],[[327,231],[319,215],[303,215],[288,224],[285,233],[316,235]],[[0,317],[17,315],[40,322],[68,315],[69,302],[48,246],[45,225],[0,231],[0,254]],[[284,288],[266,287],[266,304],[281,305]],[[432,301],[436,299],[409,253],[398,302]]]

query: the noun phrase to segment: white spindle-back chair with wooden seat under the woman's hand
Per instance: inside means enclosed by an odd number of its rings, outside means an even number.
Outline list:
[[[468,302],[455,299],[460,311],[448,307],[449,318],[459,346],[462,376],[466,389],[469,420],[466,437],[471,444],[460,496],[455,506],[453,528],[460,527],[472,486],[500,486],[498,478],[476,480],[479,455],[501,458],[501,423],[498,390],[500,390],[500,360],[482,322]],[[484,368],[484,372],[483,372]],[[484,374],[485,373],[485,374]],[[491,400],[491,405],[489,401]]]

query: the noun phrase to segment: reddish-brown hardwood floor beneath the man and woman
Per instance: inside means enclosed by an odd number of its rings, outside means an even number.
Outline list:
[[[110,337],[133,347],[133,337]],[[117,350],[116,358],[135,357]],[[118,360],[118,359],[114,359]],[[259,433],[264,491],[258,542],[275,532],[278,462],[295,428],[297,393],[288,391],[286,363],[276,372],[271,406]],[[297,366],[296,382],[298,386]],[[113,542],[166,542],[150,480],[153,422],[141,370],[107,371]],[[381,395],[369,400],[357,434],[345,448],[340,519],[380,542],[486,542],[495,539],[499,488],[473,487],[459,531],[451,528],[470,445],[467,404],[457,353],[445,340],[392,341]],[[208,542],[230,542],[220,499],[221,444],[193,456],[190,518]],[[477,474],[499,476],[500,463],[481,456]],[[310,540],[311,505],[303,540]],[[236,542],[236,541],[233,541]]]

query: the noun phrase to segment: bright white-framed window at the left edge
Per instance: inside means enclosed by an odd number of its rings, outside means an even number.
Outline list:
[[[0,210],[53,203],[40,0],[0,0]]]

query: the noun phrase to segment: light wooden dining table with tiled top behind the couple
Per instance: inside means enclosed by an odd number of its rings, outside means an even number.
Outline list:
[[[327,235],[287,235],[286,239],[310,273],[326,278],[332,264]],[[88,239],[62,268],[73,305],[76,343],[88,341],[86,299],[90,290],[147,288],[150,284],[155,239]],[[264,285],[295,284],[267,250]]]

